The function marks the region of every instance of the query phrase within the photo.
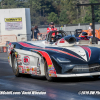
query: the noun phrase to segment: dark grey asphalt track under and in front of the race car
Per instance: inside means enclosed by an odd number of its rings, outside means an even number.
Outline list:
[[[1,92],[20,94],[2,94]],[[31,94],[22,94],[31,92]],[[32,94],[32,91],[43,91],[46,94]],[[80,95],[81,91],[90,94]],[[0,100],[100,100],[100,78],[57,78],[54,82],[48,82],[44,77],[23,75],[15,77],[12,68],[8,64],[7,54],[0,53]]]

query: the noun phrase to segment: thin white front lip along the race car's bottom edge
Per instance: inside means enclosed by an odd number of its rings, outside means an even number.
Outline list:
[[[56,74],[57,77],[83,77],[83,76],[96,76],[100,75],[100,72],[93,73],[80,73],[80,74]]]

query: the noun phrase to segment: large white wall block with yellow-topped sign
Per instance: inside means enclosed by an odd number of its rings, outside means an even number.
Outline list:
[[[22,20],[18,21],[18,18]],[[13,34],[16,36],[18,34],[31,35],[29,8],[0,9],[0,35]]]

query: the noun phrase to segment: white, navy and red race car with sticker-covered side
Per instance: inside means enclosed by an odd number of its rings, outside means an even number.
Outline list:
[[[100,49],[75,42],[76,38],[64,31],[51,31],[46,40],[12,42],[8,46],[8,61],[17,77],[31,74],[45,76],[48,81],[54,77],[98,78]]]

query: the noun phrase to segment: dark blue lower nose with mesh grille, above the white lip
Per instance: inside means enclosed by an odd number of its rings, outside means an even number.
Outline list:
[[[57,74],[85,74],[100,72],[100,64],[62,64],[62,73]]]

